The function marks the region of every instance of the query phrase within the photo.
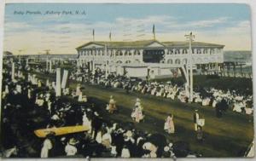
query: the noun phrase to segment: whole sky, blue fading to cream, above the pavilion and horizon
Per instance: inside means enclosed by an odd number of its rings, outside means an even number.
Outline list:
[[[224,44],[251,50],[251,10],[235,3],[7,3],[3,50],[15,55],[76,54],[93,40],[156,39]]]

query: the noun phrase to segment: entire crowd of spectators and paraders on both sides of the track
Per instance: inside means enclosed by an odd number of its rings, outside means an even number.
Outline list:
[[[8,66],[9,61],[5,62]],[[191,152],[183,141],[172,142],[165,135],[135,129],[133,124],[117,123],[105,119],[94,106],[94,102],[83,95],[79,83],[99,84],[106,88],[125,89],[127,93],[154,95],[172,100],[188,102],[184,85],[172,82],[149,82],[138,78],[127,78],[96,69],[90,72],[86,66],[73,67],[68,80],[77,84],[76,89],[63,89],[63,96],[55,96],[55,83],[40,80],[30,72],[49,72],[41,67],[17,64],[15,79],[11,78],[10,66],[3,68],[3,140],[5,157],[121,157],[121,158],[176,158],[200,157]],[[28,74],[25,72],[26,71]],[[55,70],[50,71],[52,73]],[[118,111],[112,95],[106,103],[109,114]],[[232,107],[235,112],[253,113],[250,104],[252,95],[239,95],[235,90],[195,89],[193,102],[216,108],[217,117]],[[137,98],[131,112],[131,120],[139,124],[147,117],[143,113],[141,100]],[[163,129],[175,134],[175,116],[166,113]],[[205,119],[194,115],[196,139],[203,141]],[[191,123],[192,124],[192,123]],[[83,125],[84,132],[55,135],[49,132],[44,139],[34,135],[35,129],[50,129]],[[15,139],[14,139],[15,138]],[[183,146],[180,146],[183,144]],[[179,147],[183,147],[180,149]]]

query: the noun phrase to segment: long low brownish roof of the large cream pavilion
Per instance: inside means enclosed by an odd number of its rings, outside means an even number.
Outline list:
[[[90,44],[97,44],[101,46],[105,46],[107,44],[108,48],[145,48],[151,43],[160,43],[165,47],[189,47],[188,42],[159,42],[157,40],[140,40],[140,41],[132,41],[132,42],[110,42],[110,41],[94,41],[89,43],[84,43],[76,49],[82,49],[84,46]],[[216,43],[201,43],[201,42],[193,42],[193,47],[220,47],[223,48],[224,45],[216,44]]]

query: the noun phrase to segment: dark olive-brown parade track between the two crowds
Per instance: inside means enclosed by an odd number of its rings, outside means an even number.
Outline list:
[[[40,75],[39,78],[54,79],[54,75]],[[89,101],[95,102],[95,108],[103,118],[113,120],[121,124],[132,122],[131,110],[136,98],[142,100],[145,120],[135,124],[136,129],[151,133],[161,133],[172,141],[187,141],[190,149],[201,152],[204,157],[241,157],[253,141],[253,117],[235,112],[225,112],[223,118],[215,117],[215,110],[211,106],[198,104],[186,104],[179,101],[171,101],[152,95],[138,93],[126,94],[123,89],[106,89],[98,85],[83,84],[84,94]],[[76,83],[70,81],[69,87],[74,89]],[[113,95],[118,113],[109,115],[105,110],[109,96]],[[204,126],[205,141],[199,143],[195,139],[193,113],[199,109],[200,117],[206,119]],[[174,115],[175,134],[168,135],[164,129],[167,113]]]

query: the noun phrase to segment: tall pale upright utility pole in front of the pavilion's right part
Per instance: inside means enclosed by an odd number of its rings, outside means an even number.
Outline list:
[[[193,61],[192,61],[192,42],[194,41],[193,39],[195,38],[195,35],[192,34],[192,32],[189,33],[189,35],[185,35],[185,37],[189,41],[189,72],[190,72],[190,77],[189,77],[189,102],[193,101]]]

